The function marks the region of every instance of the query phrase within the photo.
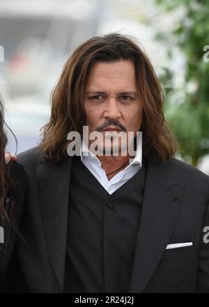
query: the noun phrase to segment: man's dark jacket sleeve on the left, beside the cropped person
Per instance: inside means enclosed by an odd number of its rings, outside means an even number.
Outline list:
[[[36,169],[39,165],[40,160],[40,149],[31,148],[25,152],[21,152],[17,155],[17,161],[24,166],[26,172],[27,187],[26,195],[24,197],[24,208],[21,217],[20,234],[15,242],[15,248],[13,250],[12,261],[10,262],[9,268],[9,291],[17,293],[27,293],[29,291],[29,285],[26,281],[24,269],[29,265],[29,276],[31,277],[31,270],[36,270],[33,267],[33,262],[30,259],[30,253],[36,258],[36,249],[33,248],[33,237],[30,237],[31,231],[33,232],[33,219],[36,217],[38,209],[38,202],[36,198]],[[32,193],[32,195],[31,195]],[[41,226],[40,226],[41,227]],[[31,238],[31,245],[29,244]],[[40,242],[38,242],[40,243]],[[26,251],[20,255],[20,246],[25,247]],[[36,245],[35,245],[36,247]],[[30,251],[29,255],[27,249]]]

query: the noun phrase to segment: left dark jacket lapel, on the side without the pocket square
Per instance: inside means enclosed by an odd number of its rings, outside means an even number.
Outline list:
[[[68,228],[68,198],[72,157],[60,164],[40,164],[38,191],[47,249],[52,267],[63,290]]]

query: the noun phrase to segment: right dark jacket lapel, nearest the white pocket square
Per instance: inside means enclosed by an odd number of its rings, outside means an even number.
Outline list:
[[[144,291],[169,244],[180,213],[183,187],[173,177],[171,166],[169,162],[148,163],[130,293]]]

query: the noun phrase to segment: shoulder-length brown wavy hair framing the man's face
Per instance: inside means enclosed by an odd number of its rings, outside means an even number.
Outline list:
[[[114,62],[132,59],[138,81],[144,114],[143,156],[167,161],[176,152],[176,140],[164,118],[164,94],[148,56],[131,36],[110,33],[93,37],[72,53],[51,95],[52,113],[49,123],[41,128],[42,159],[61,162],[67,155],[67,134],[82,134],[86,123],[84,92],[95,61]]]

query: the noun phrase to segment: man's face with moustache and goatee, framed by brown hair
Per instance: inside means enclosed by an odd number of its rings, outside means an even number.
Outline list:
[[[136,136],[141,127],[143,108],[133,61],[96,62],[86,84],[84,105],[89,134],[99,131],[105,135],[104,129],[111,131],[112,128],[116,129],[115,134],[123,131],[127,136],[127,132],[134,132]],[[111,148],[113,146],[111,139]],[[105,141],[102,148],[104,151]]]

